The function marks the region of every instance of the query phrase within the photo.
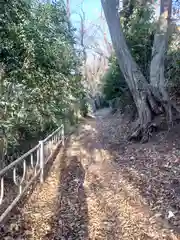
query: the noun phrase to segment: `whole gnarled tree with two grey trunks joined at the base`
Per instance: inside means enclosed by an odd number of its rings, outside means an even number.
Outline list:
[[[154,126],[155,116],[164,113],[168,123],[171,124],[173,113],[178,113],[176,106],[169,99],[164,77],[164,59],[168,47],[172,1],[168,1],[166,9],[161,9],[152,49],[150,81],[144,77],[128,49],[120,23],[119,0],[101,0],[101,3],[120,69],[132,93],[138,112],[137,126],[130,138],[141,137],[143,141],[146,141]],[[149,3],[141,4],[145,7]]]

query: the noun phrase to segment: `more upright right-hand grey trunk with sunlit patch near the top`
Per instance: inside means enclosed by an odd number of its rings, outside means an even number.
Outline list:
[[[164,10],[161,8],[161,15],[158,22],[158,28],[154,37],[152,49],[152,60],[150,66],[150,84],[154,94],[161,98],[162,106],[167,115],[169,125],[172,124],[172,110],[178,112],[177,107],[171,103],[167,91],[167,82],[164,76],[164,61],[168,50],[169,25],[171,16],[172,1],[169,0],[169,6]]]

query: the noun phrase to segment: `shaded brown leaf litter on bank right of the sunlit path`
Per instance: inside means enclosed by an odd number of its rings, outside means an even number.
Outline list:
[[[129,124],[119,113],[99,118],[99,140],[127,185],[141,196],[165,229],[180,232],[180,148],[178,126],[157,133],[146,144],[126,141]],[[105,140],[103,140],[105,139]],[[108,140],[108,141],[107,141]],[[114,144],[115,143],[115,144]],[[159,238],[158,238],[159,239]],[[180,237],[178,237],[180,239]]]

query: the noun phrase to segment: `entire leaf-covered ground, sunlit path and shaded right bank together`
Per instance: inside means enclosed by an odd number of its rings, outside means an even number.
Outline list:
[[[1,239],[180,239],[178,126],[146,144],[128,129],[107,109],[82,124]]]

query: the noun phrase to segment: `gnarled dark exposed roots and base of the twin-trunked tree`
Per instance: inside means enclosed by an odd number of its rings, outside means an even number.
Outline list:
[[[144,98],[145,99],[145,98]],[[156,119],[161,117],[157,123]],[[180,119],[180,110],[169,98],[162,96],[161,92],[155,88],[150,88],[146,95],[146,100],[138,106],[139,119],[128,140],[137,140],[145,143],[152,136],[154,131],[160,129],[162,122],[167,124],[167,129],[171,129],[174,123]]]

